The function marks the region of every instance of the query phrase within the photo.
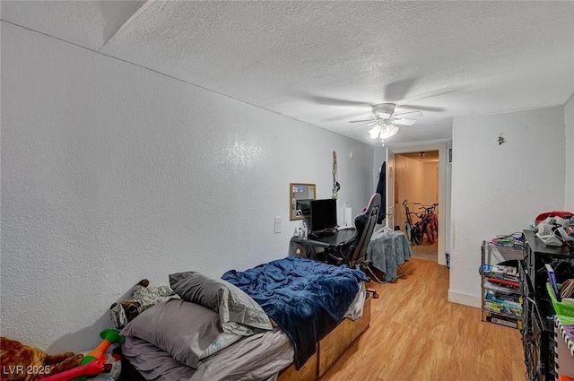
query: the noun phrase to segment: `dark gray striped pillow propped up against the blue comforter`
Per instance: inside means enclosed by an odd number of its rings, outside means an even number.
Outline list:
[[[248,336],[257,329],[273,329],[264,309],[229,281],[196,272],[172,273],[170,286],[181,299],[219,313],[223,332]]]

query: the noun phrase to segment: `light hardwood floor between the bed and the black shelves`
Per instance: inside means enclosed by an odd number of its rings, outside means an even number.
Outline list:
[[[370,282],[369,329],[320,381],[522,381],[516,329],[481,321],[478,308],[448,302],[448,269],[412,258],[408,276]]]

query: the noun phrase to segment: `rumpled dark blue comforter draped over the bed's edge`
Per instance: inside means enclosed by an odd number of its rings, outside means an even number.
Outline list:
[[[255,299],[283,329],[300,368],[315,353],[317,341],[343,318],[359,281],[367,277],[347,266],[290,256],[245,272],[231,270],[222,279]]]

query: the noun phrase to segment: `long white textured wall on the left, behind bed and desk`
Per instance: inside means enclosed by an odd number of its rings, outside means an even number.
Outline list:
[[[143,278],[287,255],[289,183],[330,197],[334,150],[340,203],[372,193],[368,145],[6,23],[2,100],[2,334],[47,351]]]

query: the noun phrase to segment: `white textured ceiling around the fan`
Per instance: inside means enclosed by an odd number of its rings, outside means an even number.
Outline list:
[[[563,105],[574,2],[2,1],[1,19],[365,143],[370,105],[452,119]]]

